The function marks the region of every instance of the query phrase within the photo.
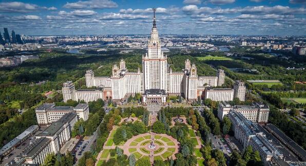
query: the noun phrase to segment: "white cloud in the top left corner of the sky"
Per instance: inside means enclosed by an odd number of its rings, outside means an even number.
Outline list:
[[[26,13],[32,12],[39,9],[39,6],[34,4],[26,4],[22,2],[8,2],[8,3],[0,3],[0,11],[1,12],[18,12],[18,13]]]

